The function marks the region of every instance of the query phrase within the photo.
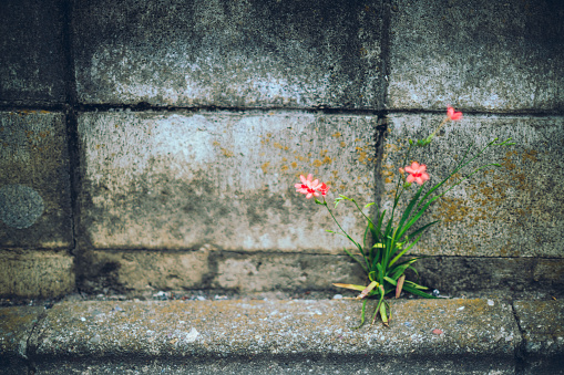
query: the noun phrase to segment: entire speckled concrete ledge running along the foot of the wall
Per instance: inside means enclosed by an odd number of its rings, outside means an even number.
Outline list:
[[[552,311],[552,334],[562,342],[562,315],[555,314],[562,302],[515,305],[520,316]],[[357,331],[352,326],[358,323],[360,302],[349,300],[64,302],[48,310],[33,330],[29,316],[39,316],[37,308],[10,308],[1,310],[2,317],[28,320],[2,319],[0,364],[7,366],[6,358],[16,357],[27,361],[35,374],[135,368],[315,374],[375,369],[412,374],[432,368],[514,374],[531,368],[530,351],[523,350],[524,336],[510,304],[458,299],[399,300],[391,306],[390,327],[367,324]],[[534,347],[546,332],[535,334],[535,326],[523,319],[526,345]],[[544,365],[555,365],[562,345],[554,345],[550,355],[536,351],[534,361],[542,357]]]

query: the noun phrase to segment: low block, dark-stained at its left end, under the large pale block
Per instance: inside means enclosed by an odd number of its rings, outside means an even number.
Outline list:
[[[91,293],[197,289],[209,273],[205,251],[89,251],[81,265],[81,289]]]

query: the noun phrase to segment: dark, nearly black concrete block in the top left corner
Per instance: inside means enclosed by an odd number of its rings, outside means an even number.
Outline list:
[[[0,3],[0,103],[62,102],[63,1]]]

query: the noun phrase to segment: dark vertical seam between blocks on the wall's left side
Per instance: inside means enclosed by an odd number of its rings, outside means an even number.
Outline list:
[[[63,28],[62,41],[64,53],[64,86],[65,103],[64,112],[66,118],[66,142],[69,148],[69,175],[70,175],[70,195],[71,195],[71,228],[73,247],[71,253],[76,257],[79,247],[79,205],[78,191],[80,187],[80,153],[78,134],[78,101],[76,82],[74,74],[74,50],[73,50],[73,9],[74,0],[63,0]],[[74,259],[76,263],[76,259]],[[75,271],[76,272],[76,271]]]

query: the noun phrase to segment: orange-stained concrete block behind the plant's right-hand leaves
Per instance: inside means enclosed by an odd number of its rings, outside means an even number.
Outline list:
[[[384,209],[391,208],[408,139],[427,137],[441,119],[437,115],[390,115],[380,170]],[[563,128],[563,117],[466,115],[461,122],[448,123],[428,147],[416,148],[409,159],[428,166],[429,189],[450,174],[471,143],[479,148],[495,137],[512,137],[516,143],[483,154],[476,166],[500,163],[501,167],[473,175],[430,207],[420,225],[442,221],[423,235],[412,252],[563,258],[564,175],[555,168],[562,160]],[[457,178],[472,170],[462,170]],[[416,190],[417,185],[404,198]]]

